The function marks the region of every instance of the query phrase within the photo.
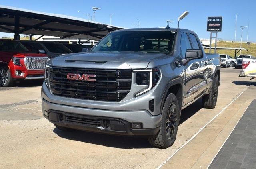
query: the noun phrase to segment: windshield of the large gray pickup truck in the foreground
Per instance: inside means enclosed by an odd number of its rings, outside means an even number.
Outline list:
[[[171,53],[176,32],[171,31],[120,31],[104,37],[90,51],[141,51]]]

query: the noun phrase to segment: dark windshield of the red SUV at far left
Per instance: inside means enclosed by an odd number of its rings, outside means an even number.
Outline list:
[[[28,52],[28,49],[16,41],[0,41],[0,51]]]

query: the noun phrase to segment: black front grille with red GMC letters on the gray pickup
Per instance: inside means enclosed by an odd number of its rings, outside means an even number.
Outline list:
[[[96,81],[71,80],[68,73],[96,75]],[[121,101],[131,89],[131,69],[50,67],[50,89],[57,96],[84,100]]]

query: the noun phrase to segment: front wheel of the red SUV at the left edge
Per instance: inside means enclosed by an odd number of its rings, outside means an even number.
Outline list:
[[[10,69],[5,66],[0,67],[0,86],[10,87],[13,85],[13,82]]]

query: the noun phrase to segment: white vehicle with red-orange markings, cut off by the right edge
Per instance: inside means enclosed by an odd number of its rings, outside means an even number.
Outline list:
[[[242,59],[242,71],[239,77],[250,77],[250,80],[256,78],[256,59]]]

